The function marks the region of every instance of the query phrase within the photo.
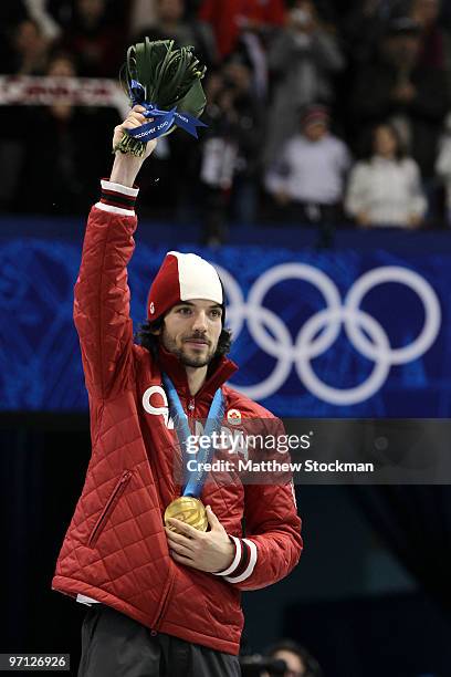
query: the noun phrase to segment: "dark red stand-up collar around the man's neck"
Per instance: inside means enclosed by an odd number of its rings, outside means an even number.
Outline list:
[[[177,355],[169,353],[161,344],[158,346],[158,362],[161,372],[165,372],[176,386],[180,397],[189,399],[192,395],[189,392],[187,372]],[[208,367],[207,379],[200,390],[196,394],[196,399],[211,400],[214,393],[238,369],[238,365],[228,357],[214,358]]]

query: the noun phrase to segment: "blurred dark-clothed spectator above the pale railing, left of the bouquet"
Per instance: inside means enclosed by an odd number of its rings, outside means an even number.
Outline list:
[[[74,1],[61,48],[77,55],[80,75],[117,77],[127,46],[118,15],[107,12],[106,0]]]

